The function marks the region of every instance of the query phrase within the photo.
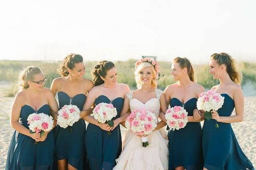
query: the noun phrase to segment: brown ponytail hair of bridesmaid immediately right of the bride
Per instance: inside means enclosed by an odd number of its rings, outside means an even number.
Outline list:
[[[183,58],[176,57],[175,59],[173,59],[173,63],[178,63],[179,67],[181,69],[186,67],[187,68],[187,75],[188,75],[190,81],[195,81],[194,70],[193,70],[192,64],[189,61],[189,59],[187,59],[186,57],[183,57]]]

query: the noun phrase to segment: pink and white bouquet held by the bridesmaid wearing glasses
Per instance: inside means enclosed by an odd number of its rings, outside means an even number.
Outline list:
[[[40,136],[53,128],[53,118],[44,113],[32,113],[28,115],[27,121],[30,133],[40,133]]]

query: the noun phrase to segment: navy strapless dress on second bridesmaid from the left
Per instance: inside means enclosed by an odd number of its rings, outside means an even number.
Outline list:
[[[80,111],[83,110],[86,96],[84,94],[77,94],[73,98],[65,92],[58,92],[58,102],[60,109],[64,105],[76,105]],[[83,170],[84,158],[87,158],[85,151],[85,121],[80,119],[71,127],[61,128],[56,126],[54,128],[55,138],[55,156],[57,160],[67,159],[68,163],[78,170]]]

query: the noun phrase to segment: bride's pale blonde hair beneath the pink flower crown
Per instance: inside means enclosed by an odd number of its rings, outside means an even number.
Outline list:
[[[140,65],[138,65],[137,69],[135,69],[134,71],[134,74],[135,74],[135,81],[136,81],[136,84],[137,84],[137,88],[140,88],[141,87],[141,79],[139,78],[139,72],[146,68],[146,67],[151,67],[151,70],[152,70],[152,74],[153,74],[153,79],[151,81],[151,85],[154,87],[154,88],[157,88],[157,75],[156,75],[156,72],[155,72],[155,68],[154,66],[149,63],[149,62],[142,62]]]

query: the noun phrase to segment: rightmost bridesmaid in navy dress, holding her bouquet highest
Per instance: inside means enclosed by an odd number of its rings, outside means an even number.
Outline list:
[[[242,74],[236,61],[226,53],[211,55],[209,66],[209,73],[220,81],[212,90],[225,99],[222,108],[212,112],[212,119],[204,121],[204,170],[253,170],[231,127],[231,123],[241,122],[244,117],[244,95],[240,86]],[[230,116],[234,108],[236,115]],[[215,128],[213,119],[218,121],[219,128]]]

